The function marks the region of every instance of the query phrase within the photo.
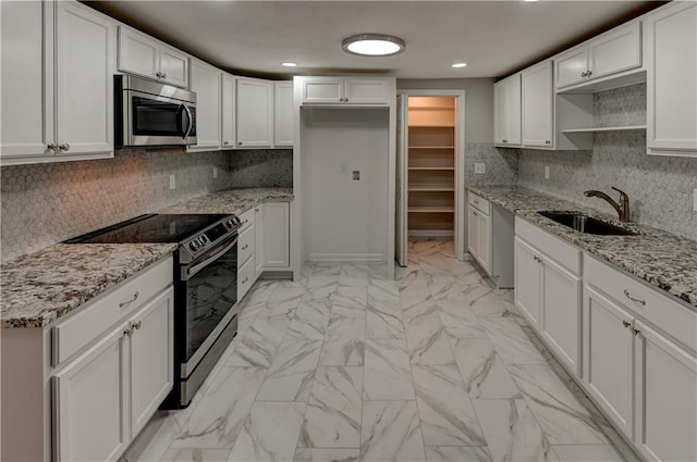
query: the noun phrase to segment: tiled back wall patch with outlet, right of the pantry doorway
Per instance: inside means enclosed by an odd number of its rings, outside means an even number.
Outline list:
[[[518,149],[494,148],[492,142],[468,142],[465,149],[466,185],[511,185],[518,177]],[[475,163],[485,163],[486,173],[475,174]]]

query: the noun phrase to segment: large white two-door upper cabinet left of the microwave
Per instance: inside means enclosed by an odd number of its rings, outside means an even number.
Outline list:
[[[1,8],[2,163],[113,155],[115,23],[77,2]]]

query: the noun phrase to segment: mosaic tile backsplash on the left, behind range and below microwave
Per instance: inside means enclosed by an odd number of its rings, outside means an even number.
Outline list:
[[[210,191],[290,187],[292,152],[124,149],[107,160],[3,166],[2,261]]]

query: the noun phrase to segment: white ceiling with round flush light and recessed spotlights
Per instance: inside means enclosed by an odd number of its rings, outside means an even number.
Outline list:
[[[91,7],[218,67],[247,75],[376,73],[501,77],[659,7],[656,1],[95,1]],[[341,40],[391,34],[404,53],[347,54]],[[280,65],[295,61],[289,71]],[[465,68],[450,64],[464,61]]]

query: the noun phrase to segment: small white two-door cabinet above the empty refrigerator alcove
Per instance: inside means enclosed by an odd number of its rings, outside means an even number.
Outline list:
[[[307,77],[302,80],[306,104],[388,104],[389,82],[369,77]]]

